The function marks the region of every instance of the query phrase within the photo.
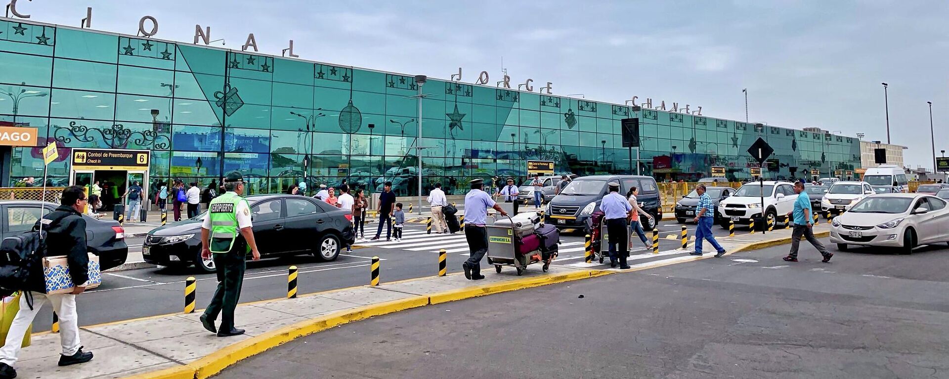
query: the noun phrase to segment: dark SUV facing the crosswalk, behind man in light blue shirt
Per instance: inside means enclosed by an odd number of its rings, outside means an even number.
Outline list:
[[[630,187],[640,189],[637,197],[642,209],[653,216],[653,219],[641,217],[642,227],[652,230],[656,220],[662,219],[659,190],[656,180],[652,177],[637,175],[594,175],[580,177],[570,181],[560,194],[547,204],[545,222],[556,225],[558,228],[584,228],[586,218],[600,209],[600,202],[608,194],[606,183],[616,181],[620,183],[620,194],[625,196]]]

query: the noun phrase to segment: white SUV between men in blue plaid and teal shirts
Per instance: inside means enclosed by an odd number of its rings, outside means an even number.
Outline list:
[[[764,191],[762,191],[762,189]],[[752,218],[761,222],[761,194],[764,193],[764,215],[775,224],[794,210],[794,184],[789,181],[753,181],[742,185],[732,195],[718,203],[718,212],[722,215],[722,228],[728,228],[728,221],[735,225],[748,225]],[[763,225],[755,225],[758,228]]]

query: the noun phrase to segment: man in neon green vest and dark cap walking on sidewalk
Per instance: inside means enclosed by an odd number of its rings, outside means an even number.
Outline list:
[[[216,332],[218,337],[240,335],[242,329],[234,328],[234,308],[240,298],[241,284],[244,282],[244,268],[247,253],[253,260],[260,259],[257,244],[253,240],[251,229],[251,207],[244,199],[244,177],[233,171],[224,178],[227,192],[211,200],[208,216],[201,227],[201,257],[214,256],[217,268],[217,291],[211,304],[201,314],[204,329]],[[214,329],[217,314],[221,315],[221,328]]]

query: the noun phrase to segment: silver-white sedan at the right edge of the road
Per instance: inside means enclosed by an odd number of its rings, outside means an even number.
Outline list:
[[[919,245],[949,242],[949,207],[946,200],[924,194],[869,196],[833,219],[830,242],[841,251],[864,245],[910,254]]]

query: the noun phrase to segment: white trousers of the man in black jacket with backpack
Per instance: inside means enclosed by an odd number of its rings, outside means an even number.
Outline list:
[[[75,294],[33,294],[33,309],[30,311],[27,304],[27,294],[20,296],[20,312],[13,318],[13,324],[9,326],[7,341],[0,349],[0,362],[8,364],[10,367],[16,363],[16,357],[20,354],[20,347],[23,345],[23,338],[27,334],[29,324],[33,323],[36,313],[47,303],[47,300],[53,304],[53,311],[60,320],[60,344],[63,345],[63,355],[73,355],[79,351],[79,320],[76,316],[76,295]]]

